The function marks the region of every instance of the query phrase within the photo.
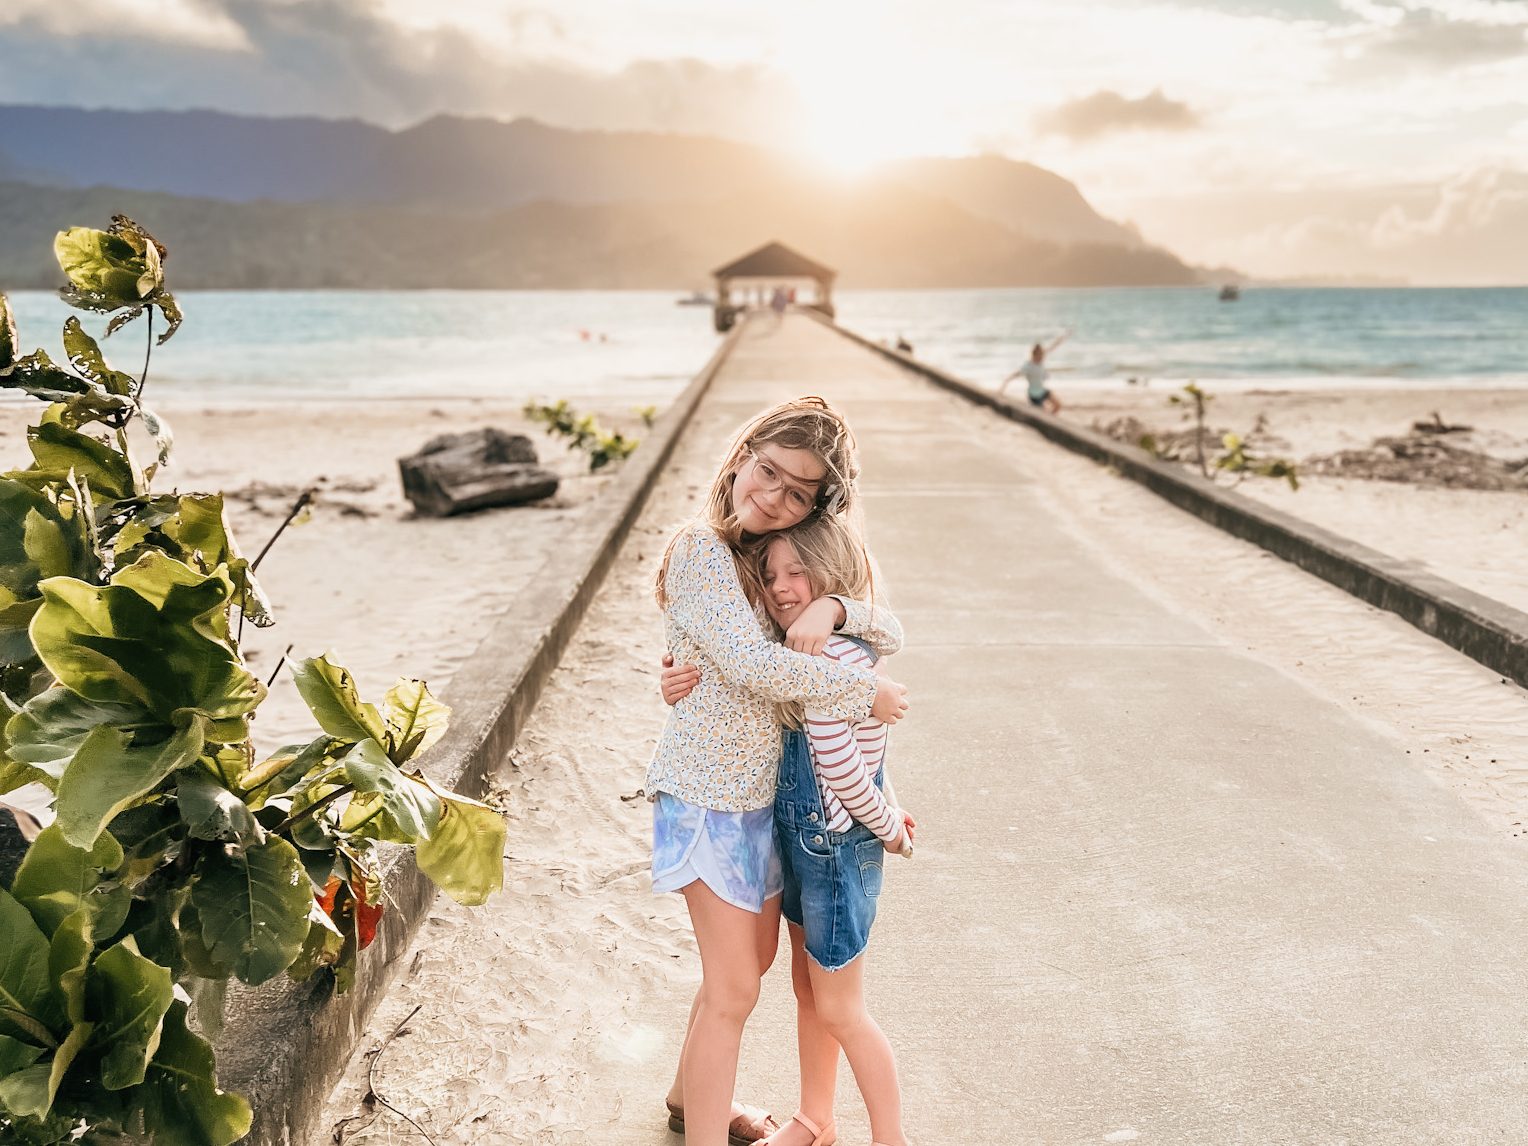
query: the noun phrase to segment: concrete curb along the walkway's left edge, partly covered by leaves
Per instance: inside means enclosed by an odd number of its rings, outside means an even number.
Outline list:
[[[487,790],[489,776],[520,735],[678,435],[746,325],[729,332],[602,492],[602,506],[575,529],[452,677],[445,697],[452,707],[451,727],[425,761],[439,782],[475,798]],[[219,1082],[255,1109],[243,1141],[327,1141],[327,1128],[318,1125],[324,1103],[435,898],[434,883],[403,848],[387,854],[384,877],[391,908],[376,941],[361,955],[348,993],[335,995],[327,975],[301,984],[281,978],[258,989],[234,984],[229,990],[228,1022],[217,1038]]]

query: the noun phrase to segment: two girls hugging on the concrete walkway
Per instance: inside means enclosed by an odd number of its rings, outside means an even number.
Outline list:
[[[839,1048],[872,1146],[906,1146],[891,1044],[865,1008],[862,958],[888,851],[915,824],[885,785],[886,726],[906,689],[874,605],[859,460],[819,397],[746,425],[657,575],[674,704],[648,767],[652,889],[680,892],[701,984],[668,1096],[688,1146],[831,1146]],[[766,630],[759,610],[773,633]],[[665,657],[665,663],[672,663]],[[801,1109],[784,1126],[733,1103],[743,1025],[790,924]]]

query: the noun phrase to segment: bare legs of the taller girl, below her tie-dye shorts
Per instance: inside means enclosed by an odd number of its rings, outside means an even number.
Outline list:
[[[727,1138],[727,1123],[733,1115],[732,1088],[736,1083],[743,1024],[758,1001],[759,979],[775,961],[775,950],[779,946],[781,900],[779,895],[766,900],[764,909],[755,915],[720,898],[700,880],[685,888],[683,894],[700,944],[701,984],[689,1008],[685,1045],[680,1050],[678,1071],[674,1074],[668,1100],[685,1111],[685,1137],[689,1146],[704,1146],[712,1141],[706,1137],[709,1129],[703,1129],[709,1128],[709,1122],[698,1120],[697,1112],[706,1109],[709,1114],[712,1091],[721,1074],[726,1076],[726,1102],[721,1108],[721,1137],[715,1141],[724,1143]],[[750,973],[750,963],[756,973]],[[735,1034],[730,1034],[733,1028]],[[700,1030],[698,1050],[697,1030]],[[730,1056],[723,1053],[717,1057],[707,1050],[720,1045],[724,1051],[729,1039]],[[698,1065],[691,1068],[691,1063]],[[692,1111],[691,1102],[697,1099],[707,1106]]]

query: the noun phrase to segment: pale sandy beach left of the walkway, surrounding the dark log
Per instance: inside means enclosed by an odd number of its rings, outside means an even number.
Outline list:
[[[362,695],[380,698],[400,675],[442,695],[451,675],[513,594],[536,575],[608,481],[530,425],[523,402],[495,399],[373,399],[365,402],[183,403],[156,408],[174,428],[171,465],[156,492],[225,490],[228,515],[251,559],[301,490],[316,487],[306,523],[293,524],[260,565],[277,623],[244,626],[243,649],[266,678],[283,649],[313,657],[333,649]],[[605,426],[642,435],[630,403],[590,403]],[[41,403],[0,406],[0,451],[26,458],[28,420]],[[556,495],[527,506],[458,518],[414,516],[397,458],[435,434],[481,426],[526,432],[542,465],[562,475]],[[139,451],[139,457],[150,457]],[[315,735],[306,706],[283,674],[254,724],[257,750]]]

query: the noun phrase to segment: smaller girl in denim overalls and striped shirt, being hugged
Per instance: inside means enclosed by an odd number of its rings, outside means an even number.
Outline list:
[[[776,535],[764,553],[764,604],[784,633],[825,594],[871,596],[859,533],[842,516]],[[874,665],[863,642],[834,636],[824,656]],[[891,1044],[865,1008],[865,947],[888,851],[912,854],[914,821],[883,792],[886,726],[845,721],[807,704],[787,706],[775,796],[784,871],[792,978],[801,1044],[801,1111],[767,1141],[828,1146],[839,1047],[869,1112],[874,1146],[906,1146]]]

